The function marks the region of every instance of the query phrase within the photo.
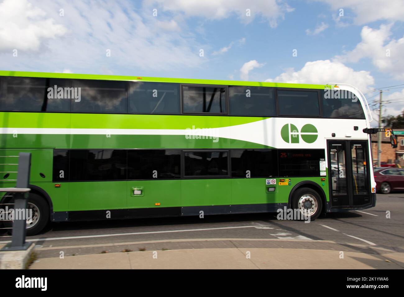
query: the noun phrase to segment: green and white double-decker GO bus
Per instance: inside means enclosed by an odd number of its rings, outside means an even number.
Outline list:
[[[29,235],[48,221],[365,209],[366,105],[344,84],[0,71],[0,186],[31,153]]]

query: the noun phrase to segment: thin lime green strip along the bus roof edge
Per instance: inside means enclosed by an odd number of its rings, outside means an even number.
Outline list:
[[[52,73],[52,72],[0,71],[0,76],[74,78],[74,79],[90,79],[90,80],[133,80],[142,82],[174,82],[181,84],[219,84],[229,86],[272,86],[278,88],[324,89],[323,84],[286,84],[278,82],[243,82],[238,80],[201,80],[201,79],[189,79],[189,78],[161,78],[161,77],[143,77],[143,76],[118,76],[118,75],[73,74],[73,73]]]

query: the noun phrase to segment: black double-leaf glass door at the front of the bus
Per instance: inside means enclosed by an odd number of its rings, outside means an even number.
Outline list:
[[[368,206],[371,164],[367,141],[329,140],[327,150],[331,208]]]

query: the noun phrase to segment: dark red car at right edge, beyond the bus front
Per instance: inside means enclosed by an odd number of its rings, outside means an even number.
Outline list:
[[[404,170],[399,168],[377,168],[373,171],[376,190],[383,194],[404,190]]]

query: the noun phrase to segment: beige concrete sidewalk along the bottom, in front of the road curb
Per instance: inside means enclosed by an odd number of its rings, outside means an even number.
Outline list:
[[[250,254],[248,259],[246,255]],[[316,249],[214,248],[40,258],[30,269],[402,269],[404,253]]]

